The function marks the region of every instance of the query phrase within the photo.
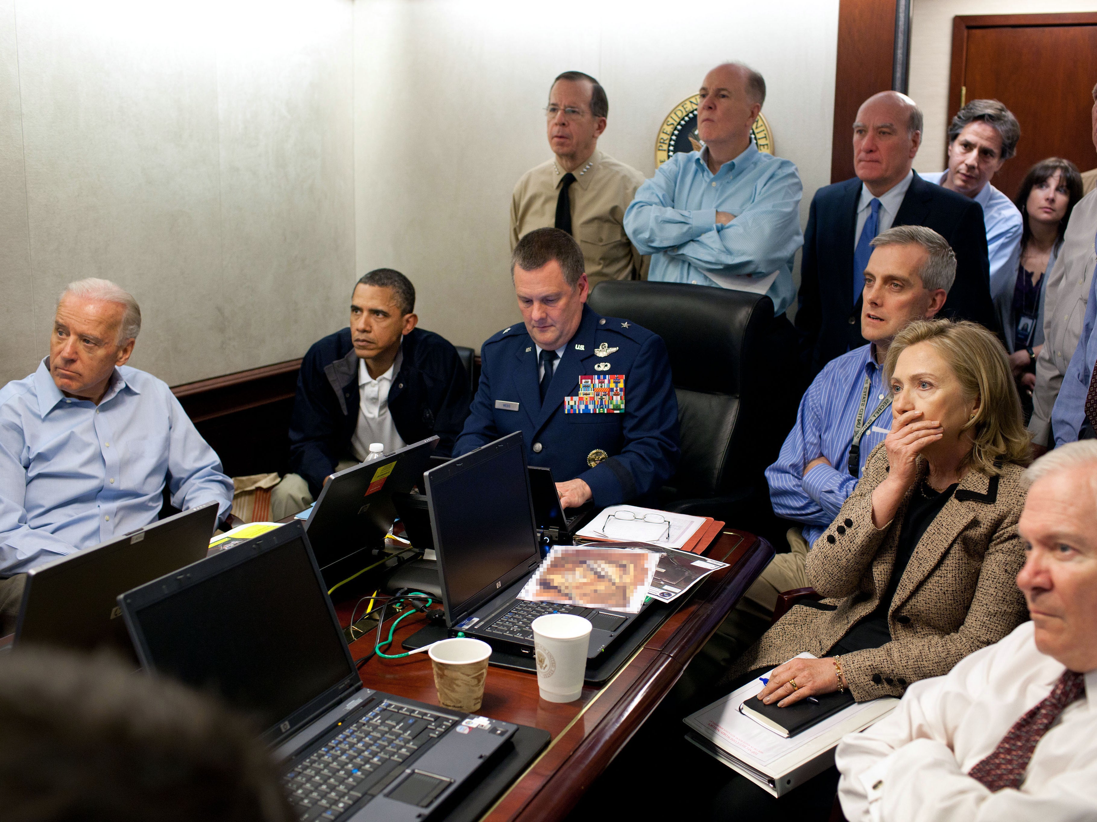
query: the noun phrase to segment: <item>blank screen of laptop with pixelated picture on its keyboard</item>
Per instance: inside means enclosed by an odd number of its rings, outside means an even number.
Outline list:
[[[522,432],[427,472],[445,618],[452,627],[536,568]]]

